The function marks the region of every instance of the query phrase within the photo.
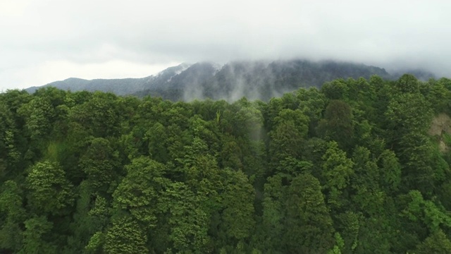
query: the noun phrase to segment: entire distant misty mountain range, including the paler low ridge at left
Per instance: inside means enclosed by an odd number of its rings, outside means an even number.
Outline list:
[[[182,63],[145,78],[83,80],[68,78],[49,83],[63,90],[100,90],[116,95],[161,96],[164,99],[226,99],[241,97],[268,100],[299,87],[321,87],[335,78],[369,78],[371,75],[396,78],[385,69],[359,63],[337,61],[234,61]],[[26,90],[34,92],[40,87]]]

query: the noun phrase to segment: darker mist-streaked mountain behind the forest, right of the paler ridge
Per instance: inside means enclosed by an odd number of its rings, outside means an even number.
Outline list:
[[[171,100],[226,99],[241,97],[268,100],[299,87],[321,87],[335,78],[393,78],[383,68],[334,61],[235,61],[218,68],[212,63],[196,63],[175,75],[163,87],[136,92]]]

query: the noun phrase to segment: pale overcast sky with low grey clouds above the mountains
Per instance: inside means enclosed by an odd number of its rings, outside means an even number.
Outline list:
[[[0,0],[0,91],[178,63],[338,59],[451,76],[451,1]]]

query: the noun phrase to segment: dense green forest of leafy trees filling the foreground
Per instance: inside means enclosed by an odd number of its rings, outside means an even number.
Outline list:
[[[451,80],[0,94],[0,253],[451,253]]]

